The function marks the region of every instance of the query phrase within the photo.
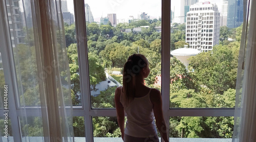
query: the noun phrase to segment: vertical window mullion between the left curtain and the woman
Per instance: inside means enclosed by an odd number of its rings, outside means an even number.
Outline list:
[[[90,82],[89,82],[89,62],[86,34],[86,17],[84,11],[84,1],[74,0],[76,37],[78,48],[78,64],[80,75],[80,93],[84,115],[84,127],[86,128],[86,141],[93,141],[92,117],[90,116]]]

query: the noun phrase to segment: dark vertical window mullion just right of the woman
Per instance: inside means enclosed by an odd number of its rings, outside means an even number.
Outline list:
[[[163,113],[166,122],[166,131],[169,133],[169,116],[167,115],[169,110],[169,90],[170,90],[170,0],[162,0],[162,84],[161,93],[163,101]],[[163,139],[162,139],[163,141]]]

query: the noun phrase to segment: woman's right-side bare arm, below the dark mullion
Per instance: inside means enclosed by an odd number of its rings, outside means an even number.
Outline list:
[[[160,132],[163,140],[168,142],[168,136],[166,131],[166,124],[163,117],[163,109],[162,109],[162,97],[161,93],[157,89],[152,89],[152,93],[150,95],[151,102],[153,103],[153,111],[156,118],[156,125],[158,131]]]

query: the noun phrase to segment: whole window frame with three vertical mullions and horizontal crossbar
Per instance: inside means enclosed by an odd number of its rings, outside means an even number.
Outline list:
[[[12,44],[10,39],[9,23],[6,13],[5,1],[0,3],[0,46],[4,48],[2,51],[2,59],[4,66],[5,81],[9,87],[9,113],[12,124],[12,132],[14,141],[21,140],[21,132],[19,131],[19,119],[22,117],[23,109],[18,107],[18,102],[15,99],[17,92],[16,72],[13,61]],[[76,34],[78,46],[78,63],[80,72],[80,91],[81,91],[81,107],[73,107],[74,117],[84,117],[84,127],[86,131],[86,141],[93,141],[93,125],[92,117],[116,117],[115,108],[93,109],[91,107],[90,82],[89,82],[89,63],[87,50],[87,34],[86,20],[84,12],[84,0],[74,0],[74,11],[76,21]],[[162,101],[164,118],[169,129],[169,117],[233,117],[234,108],[169,108],[169,75],[170,75],[170,1],[162,0]],[[10,47],[10,48],[8,48]],[[84,48],[85,47],[85,48]],[[166,66],[164,66],[166,65]],[[0,109],[0,113],[3,113]],[[26,108],[28,117],[39,117],[36,113],[38,107]]]

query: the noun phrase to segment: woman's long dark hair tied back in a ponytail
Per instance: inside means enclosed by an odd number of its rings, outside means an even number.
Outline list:
[[[126,104],[134,99],[135,77],[139,75],[141,69],[147,67],[148,62],[143,54],[132,54],[127,59],[123,67],[123,93]]]

